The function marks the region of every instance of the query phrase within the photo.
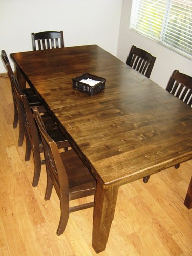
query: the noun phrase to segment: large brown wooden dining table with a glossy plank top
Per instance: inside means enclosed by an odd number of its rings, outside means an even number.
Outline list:
[[[20,86],[27,81],[37,93],[96,179],[92,245],[99,253],[119,186],[192,158],[192,110],[97,45],[11,58]],[[73,89],[72,78],[84,73],[105,78],[105,90],[90,96]],[[187,200],[191,205],[191,190]]]

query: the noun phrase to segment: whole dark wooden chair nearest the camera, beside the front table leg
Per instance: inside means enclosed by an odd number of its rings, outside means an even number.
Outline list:
[[[45,200],[50,199],[53,186],[60,200],[60,221],[57,228],[57,235],[60,235],[65,231],[70,212],[94,206],[93,201],[70,207],[69,201],[94,195],[96,181],[73,149],[58,151],[56,143],[46,132],[38,109],[33,108],[33,113],[44,144],[48,179]]]

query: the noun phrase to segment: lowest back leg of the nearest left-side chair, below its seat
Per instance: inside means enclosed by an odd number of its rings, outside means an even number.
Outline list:
[[[63,232],[66,229],[68,219],[69,219],[69,200],[68,202],[65,203],[62,199],[60,199],[60,211],[61,211],[60,221],[57,228],[57,236],[60,236],[60,234],[63,234]]]

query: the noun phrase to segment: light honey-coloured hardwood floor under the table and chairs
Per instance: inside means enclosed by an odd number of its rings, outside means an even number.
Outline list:
[[[10,82],[1,74],[0,118],[0,255],[96,255],[93,208],[70,214],[65,233],[56,235],[58,197],[53,191],[44,201],[45,166],[32,187],[33,158],[25,162],[25,142],[17,146]],[[146,184],[121,186],[108,244],[99,255],[192,255],[192,209],[183,205],[191,174],[188,161],[152,175]]]

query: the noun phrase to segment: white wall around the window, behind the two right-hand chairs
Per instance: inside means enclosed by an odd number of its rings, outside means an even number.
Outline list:
[[[121,23],[117,57],[126,62],[132,45],[145,49],[156,56],[150,79],[165,88],[172,72],[177,69],[192,76],[192,61],[182,55],[129,29],[132,0],[122,0]]]

